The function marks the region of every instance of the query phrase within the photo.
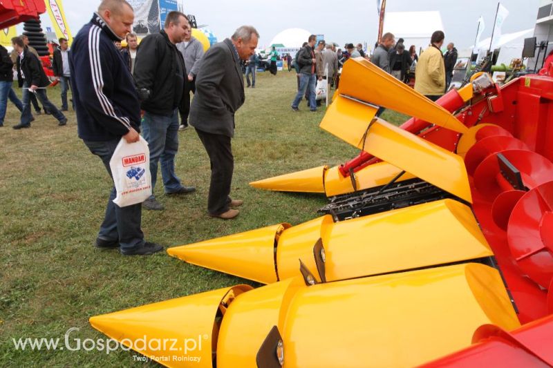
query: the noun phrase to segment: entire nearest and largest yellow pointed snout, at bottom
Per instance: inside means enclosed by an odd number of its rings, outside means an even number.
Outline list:
[[[498,271],[482,264],[301,282],[238,285],[93,317],[91,325],[133,349],[164,338],[189,348],[135,349],[167,367],[212,367],[216,352],[223,368],[274,366],[277,356],[289,368],[412,367],[469,346],[480,325],[520,326]],[[280,341],[268,340],[274,329]],[[189,339],[204,335],[192,350]],[[259,354],[267,346],[272,354]],[[182,360],[190,357],[200,362]]]

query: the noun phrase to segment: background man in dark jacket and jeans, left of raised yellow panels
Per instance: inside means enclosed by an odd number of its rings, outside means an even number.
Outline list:
[[[315,101],[315,82],[317,77],[315,76],[315,50],[313,47],[317,42],[317,36],[310,35],[308,39],[308,45],[301,50],[297,57],[297,64],[299,65],[299,90],[292,101],[292,110],[299,111],[298,105],[301,102],[303,95],[309,96],[309,106],[311,111],[317,111],[317,101]]]

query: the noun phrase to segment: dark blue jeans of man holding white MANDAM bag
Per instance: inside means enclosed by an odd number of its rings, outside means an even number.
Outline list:
[[[108,142],[84,141],[84,144],[86,144],[91,153],[102,159],[102,163],[106,166],[106,170],[112,180],[113,176],[111,175],[109,160],[111,156],[113,156],[113,152],[119,141],[120,139],[113,139]],[[140,222],[142,222],[142,204],[138,203],[131,206],[120,207],[113,203],[116,195],[117,192],[115,191],[115,186],[113,186],[109,193],[106,214],[104,215],[102,225],[100,225],[98,238],[107,241],[119,240],[121,249],[132,249],[135,246],[142,246],[144,244],[144,233],[142,233],[142,229],[140,229]]]

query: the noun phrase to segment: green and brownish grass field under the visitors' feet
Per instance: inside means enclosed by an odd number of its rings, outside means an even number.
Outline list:
[[[194,129],[179,133],[176,172],[197,192],[165,197],[158,186],[156,195],[166,209],[142,212],[147,240],[169,247],[317,216],[326,203],[324,195],[275,193],[248,185],[341,164],[358,153],[319,129],[324,108],[310,113],[303,101],[301,112],[292,112],[295,89],[294,73],[285,71],[276,77],[259,73],[256,88],[246,90],[232,141],[232,197],[245,200],[236,220],[207,216],[207,154]],[[58,88],[48,95],[60,106]],[[112,182],[100,159],[77,137],[75,113],[67,116],[64,127],[49,115],[39,115],[30,129],[13,130],[19,111],[8,102],[0,128],[0,367],[143,365],[133,351],[21,350],[12,338],[59,338],[63,345],[66,331],[76,327],[71,340],[104,339],[88,325],[90,316],[247,281],[191,266],[165,252],[126,257],[95,249]],[[406,119],[390,111],[383,118],[396,124]]]

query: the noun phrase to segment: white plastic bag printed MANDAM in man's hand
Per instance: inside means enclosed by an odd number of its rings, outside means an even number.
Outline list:
[[[127,143],[121,138],[109,161],[117,190],[113,203],[120,207],[142,203],[151,195],[150,149],[142,136]]]

